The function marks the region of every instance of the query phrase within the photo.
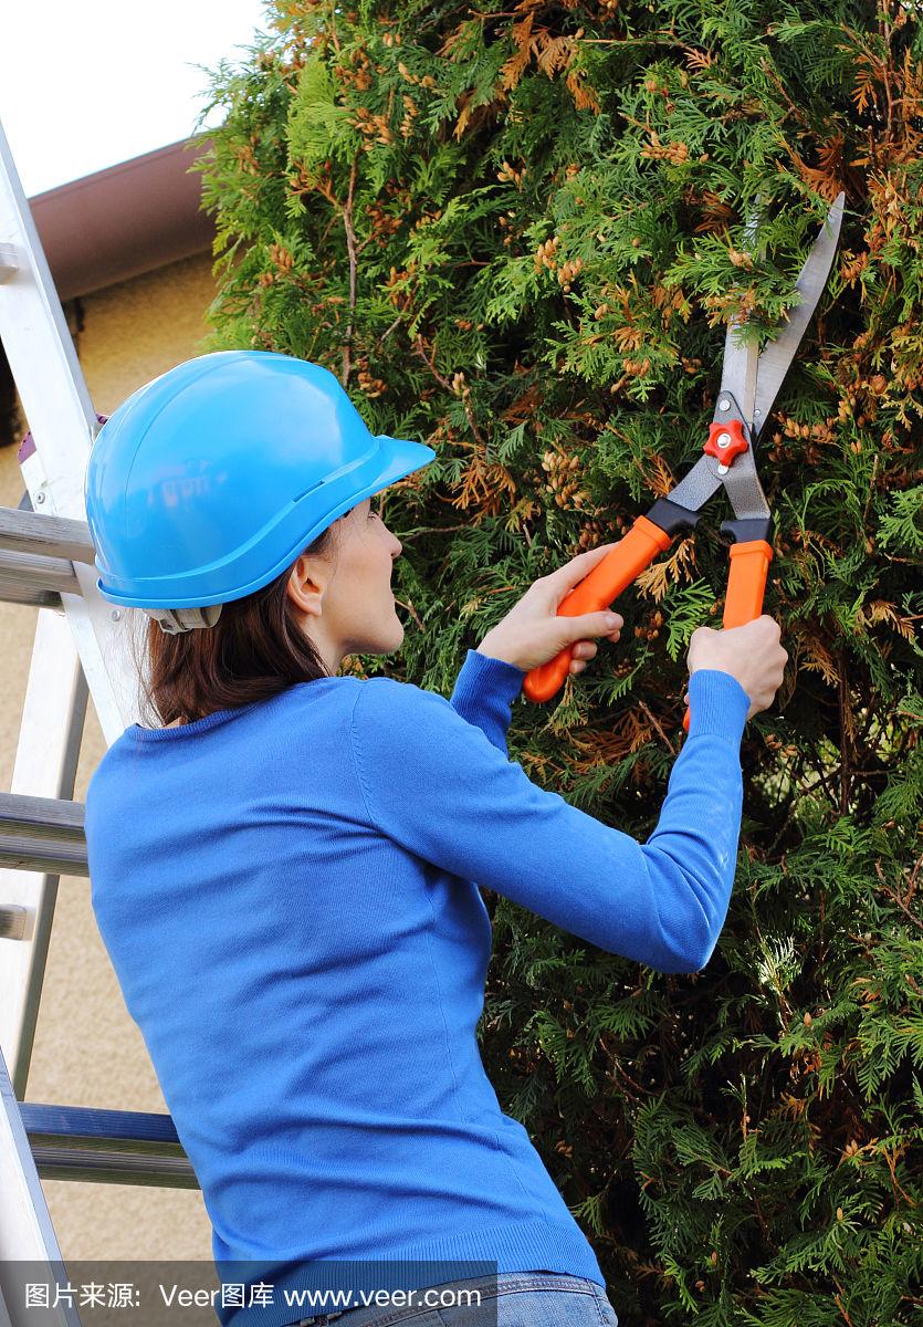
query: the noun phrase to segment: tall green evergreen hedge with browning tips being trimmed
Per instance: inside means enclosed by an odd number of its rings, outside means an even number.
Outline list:
[[[698,458],[728,320],[765,340],[846,191],[757,449],[765,610],[790,661],[744,734],[719,949],[666,977],[489,896],[480,1034],[623,1327],[919,1323],[920,7],[273,0],[268,17],[214,77],[207,348],[325,364],[374,433],[436,450],[385,499],[407,628],[387,667],[443,694],[532,580],[618,539]],[[530,778],[641,841],[690,634],[727,585],[719,504],[619,601],[622,642],[515,710]]]

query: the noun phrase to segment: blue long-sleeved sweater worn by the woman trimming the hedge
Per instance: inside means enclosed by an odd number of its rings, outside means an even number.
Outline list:
[[[216,1306],[224,1323],[316,1312],[280,1289],[332,1283],[314,1259],[361,1261],[357,1289],[389,1283],[381,1259],[424,1261],[404,1287],[485,1267],[605,1287],[484,1074],[477,886],[607,953],[700,969],[733,884],[749,702],[727,673],[692,674],[690,733],[639,844],[509,759],[524,675],[468,650],[450,701],[320,678],[133,725],[93,775],[93,908],[219,1274],[276,1287],[273,1307]]]

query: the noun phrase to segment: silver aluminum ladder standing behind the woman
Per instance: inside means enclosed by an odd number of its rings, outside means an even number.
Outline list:
[[[3,126],[0,342],[29,425],[27,492],[0,508],[0,598],[37,609],[12,786],[0,792],[0,1324],[20,1327],[4,1265],[40,1263],[49,1285],[64,1275],[40,1177],[199,1185],[168,1115],[24,1100],[58,874],[89,874],[73,802],[88,695],[107,744],[137,722],[138,698],[129,621],[95,588],[84,506],[98,418]],[[64,1300],[46,1320],[80,1327]]]

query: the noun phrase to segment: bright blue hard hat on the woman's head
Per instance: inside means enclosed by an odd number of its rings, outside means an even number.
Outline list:
[[[337,516],[435,455],[373,437],[318,364],[269,350],[187,360],[134,391],[93,443],[97,588],[145,609],[243,598]]]

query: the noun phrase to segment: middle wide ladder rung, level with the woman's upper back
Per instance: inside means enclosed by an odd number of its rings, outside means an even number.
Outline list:
[[[0,792],[0,865],[89,876],[84,803]]]

